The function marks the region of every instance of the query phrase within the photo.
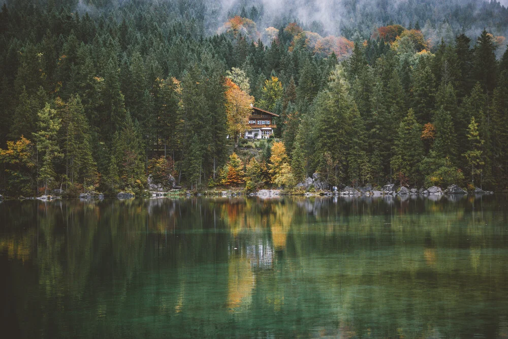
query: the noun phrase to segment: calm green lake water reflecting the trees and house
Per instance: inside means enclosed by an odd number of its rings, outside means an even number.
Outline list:
[[[0,330],[508,337],[507,202],[6,201]]]

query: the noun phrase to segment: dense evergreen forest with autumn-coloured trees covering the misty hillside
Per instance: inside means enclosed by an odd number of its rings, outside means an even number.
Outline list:
[[[448,21],[364,13],[330,30],[269,21],[263,3],[4,4],[0,194],[141,194],[149,175],[165,189],[292,190],[314,173],[330,187],[508,189],[503,6],[482,16],[469,2]],[[273,138],[238,137],[251,104],[279,115]]]

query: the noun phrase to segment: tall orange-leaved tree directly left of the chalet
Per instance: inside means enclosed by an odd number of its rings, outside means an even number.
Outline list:
[[[253,102],[252,96],[241,90],[230,78],[226,78],[228,133],[235,140],[235,148],[238,148],[240,135],[247,129]]]

